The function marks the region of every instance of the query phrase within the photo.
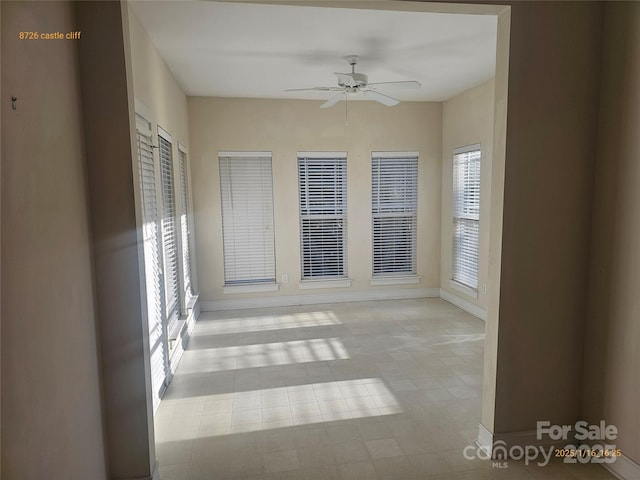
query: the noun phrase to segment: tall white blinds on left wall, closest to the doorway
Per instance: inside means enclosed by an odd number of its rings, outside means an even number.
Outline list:
[[[168,355],[164,315],[164,278],[162,246],[160,243],[160,211],[156,190],[156,164],[152,150],[152,133],[149,122],[136,114],[138,171],[142,192],[142,238],[144,245],[144,269],[147,290],[147,320],[149,324],[149,349],[151,386],[154,410],[166,387]]]

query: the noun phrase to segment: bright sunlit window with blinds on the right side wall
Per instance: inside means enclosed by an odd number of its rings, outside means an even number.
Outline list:
[[[453,280],[478,288],[480,145],[453,155]]]

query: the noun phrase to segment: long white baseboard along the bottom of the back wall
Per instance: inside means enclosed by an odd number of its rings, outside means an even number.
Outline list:
[[[310,295],[213,300],[202,302],[203,312],[242,310],[247,308],[289,307],[321,303],[367,302],[371,300],[406,300],[410,298],[438,298],[439,288],[407,288],[403,290],[368,290],[365,292],[334,292]]]

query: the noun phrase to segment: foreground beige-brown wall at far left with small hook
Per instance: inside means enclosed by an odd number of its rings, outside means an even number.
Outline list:
[[[1,9],[2,476],[105,479],[73,4]]]

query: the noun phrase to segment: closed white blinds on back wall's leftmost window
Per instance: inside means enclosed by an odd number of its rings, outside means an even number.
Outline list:
[[[275,283],[270,152],[220,152],[225,285]]]

